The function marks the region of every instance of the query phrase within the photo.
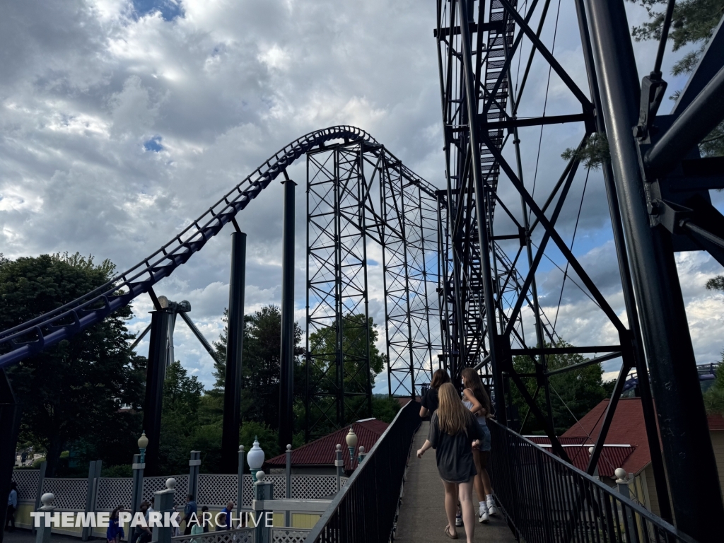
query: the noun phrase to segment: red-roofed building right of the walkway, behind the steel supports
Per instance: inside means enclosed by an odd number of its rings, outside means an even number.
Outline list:
[[[586,470],[588,450],[601,431],[609,401],[603,400],[596,405],[560,437],[561,445],[576,468]],[[724,417],[710,415],[707,418],[724,494]],[[529,436],[528,439],[542,447],[550,447],[547,437]],[[622,397],[618,400],[597,468],[600,479],[612,486],[615,479],[613,471],[616,468],[625,469],[629,474],[632,496],[652,513],[660,514],[640,397]]]

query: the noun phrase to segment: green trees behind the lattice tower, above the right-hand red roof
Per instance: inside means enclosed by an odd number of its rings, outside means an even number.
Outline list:
[[[570,347],[571,345],[560,340],[551,346],[563,348]],[[550,355],[547,357],[549,371],[572,366],[573,364],[586,360],[587,358],[579,354]],[[529,356],[514,356],[513,368],[519,374],[535,373],[534,361],[532,361]],[[584,366],[550,376],[553,423],[555,424],[555,431],[558,435],[565,432],[573,426],[573,424],[576,424],[576,420],[580,420],[581,417],[591,411],[601,400],[610,397],[611,392],[613,392],[614,382],[603,382],[602,374],[603,369],[601,364],[595,363],[590,366]],[[523,377],[522,380],[530,395],[534,395],[536,379]],[[523,416],[525,416],[525,413],[528,411],[528,404],[523,400],[523,395],[521,395],[518,387],[511,384],[510,391],[513,404],[518,409],[522,421]],[[536,405],[543,413],[547,413],[543,390],[538,392]],[[543,425],[533,416],[533,413],[531,413],[523,430],[526,433],[543,433]]]

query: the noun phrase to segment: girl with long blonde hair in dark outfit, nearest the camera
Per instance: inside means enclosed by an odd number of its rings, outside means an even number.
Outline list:
[[[472,543],[475,533],[473,478],[477,474],[472,449],[480,445],[484,434],[475,416],[460,401],[458,392],[451,383],[440,385],[437,396],[439,405],[432,414],[429,434],[422,448],[418,450],[417,458],[422,458],[429,448],[435,449],[437,471],[440,473],[442,486],[445,487],[445,535],[450,539],[458,539],[455,510],[459,497],[466,536],[468,543]]]

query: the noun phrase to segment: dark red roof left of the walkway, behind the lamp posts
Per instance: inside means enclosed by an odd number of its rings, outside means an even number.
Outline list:
[[[390,426],[387,422],[378,421],[376,418],[352,423],[355,434],[357,434],[357,447],[364,447],[366,452],[372,449],[372,445]],[[340,428],[324,437],[320,437],[311,443],[302,445],[292,450],[292,466],[334,466],[337,445],[342,445],[342,458],[345,460],[345,470],[350,471],[353,466],[350,464],[350,451],[347,448],[347,437],[350,431],[349,426]],[[358,451],[355,451],[355,453]],[[279,456],[266,460],[266,464],[274,467],[287,465],[287,455],[282,453]]]

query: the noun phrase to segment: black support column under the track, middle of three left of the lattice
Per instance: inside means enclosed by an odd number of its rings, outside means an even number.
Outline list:
[[[246,282],[246,234],[231,235],[231,279],[227,322],[227,359],[224,374],[224,421],[222,422],[222,472],[237,470],[241,422],[241,369],[244,347],[244,287]]]

